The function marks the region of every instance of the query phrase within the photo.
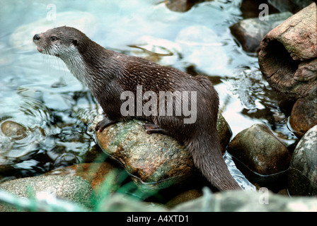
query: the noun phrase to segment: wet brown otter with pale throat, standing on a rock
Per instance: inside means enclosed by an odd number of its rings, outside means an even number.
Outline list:
[[[142,57],[105,49],[80,30],[67,26],[36,34],[33,42],[40,53],[62,59],[69,71],[91,90],[104,113],[103,120],[96,125],[97,132],[102,132],[118,121],[142,119],[146,121],[144,127],[147,133],[166,133],[185,145],[196,167],[217,189],[241,189],[231,176],[221,154],[216,128],[219,97],[207,78],[190,76]],[[163,116],[144,113],[136,116],[123,115],[120,109],[125,101],[120,95],[125,91],[137,95],[137,86],[142,87],[143,92],[151,90],[157,97],[162,91],[195,92],[195,123],[185,123],[188,115],[183,112]],[[184,98],[173,98],[172,107],[179,100],[191,106],[190,101]]]

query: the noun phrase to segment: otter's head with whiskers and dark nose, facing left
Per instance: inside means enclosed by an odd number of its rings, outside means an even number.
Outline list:
[[[85,38],[88,37],[80,30],[64,26],[34,35],[33,42],[37,45],[40,53],[63,59],[78,52],[79,44]]]

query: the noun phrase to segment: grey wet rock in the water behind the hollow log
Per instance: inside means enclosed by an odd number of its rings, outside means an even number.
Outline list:
[[[255,53],[259,51],[260,42],[267,32],[290,16],[292,13],[286,12],[265,16],[264,20],[259,18],[240,20],[230,27],[231,34],[240,42],[244,51]]]

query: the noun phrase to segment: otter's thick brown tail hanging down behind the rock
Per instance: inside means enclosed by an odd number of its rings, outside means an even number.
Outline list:
[[[196,133],[196,137],[186,142],[188,150],[196,167],[217,189],[220,191],[241,189],[224,162],[217,134],[217,129],[209,134]]]

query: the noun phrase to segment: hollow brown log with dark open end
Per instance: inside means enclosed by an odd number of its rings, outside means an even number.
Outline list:
[[[317,7],[313,3],[265,35],[258,55],[271,87],[289,100],[317,85]]]

